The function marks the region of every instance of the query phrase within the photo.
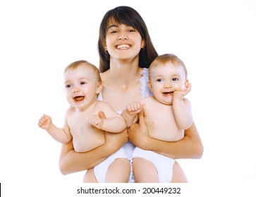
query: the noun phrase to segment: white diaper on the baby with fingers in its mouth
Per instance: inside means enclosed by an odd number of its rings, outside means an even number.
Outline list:
[[[160,183],[170,183],[173,177],[173,164],[175,160],[167,158],[164,155],[154,153],[153,151],[145,151],[136,147],[133,151],[133,158],[145,158],[154,164],[157,168]]]

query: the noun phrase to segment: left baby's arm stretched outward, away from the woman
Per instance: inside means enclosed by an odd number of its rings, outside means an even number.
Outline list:
[[[48,115],[42,115],[38,122],[38,126],[46,130],[56,141],[59,141],[61,143],[66,144],[72,139],[68,127],[65,126],[63,129],[56,127],[52,123],[51,117],[49,117]]]

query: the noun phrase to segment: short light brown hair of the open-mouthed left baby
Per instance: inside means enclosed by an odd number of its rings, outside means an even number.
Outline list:
[[[70,65],[68,65],[65,70],[64,70],[64,74],[66,72],[68,72],[69,70],[75,70],[77,68],[79,68],[80,66],[85,66],[85,67],[90,67],[92,68],[92,70],[95,72],[95,76],[97,77],[97,81],[98,82],[102,82],[102,77],[100,77],[100,74],[99,74],[99,69],[93,65],[92,63],[89,63],[87,61],[75,61],[73,63],[71,63]]]

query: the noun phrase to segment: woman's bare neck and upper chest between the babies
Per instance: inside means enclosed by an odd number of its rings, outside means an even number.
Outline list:
[[[110,69],[102,73],[102,99],[115,110],[124,110],[128,103],[139,101],[142,68],[137,63],[111,62]]]

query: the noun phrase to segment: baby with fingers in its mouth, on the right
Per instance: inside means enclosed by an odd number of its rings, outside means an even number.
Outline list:
[[[184,130],[193,124],[187,70],[181,59],[172,54],[158,56],[150,65],[148,86],[153,96],[130,103],[122,116],[128,127],[138,121],[142,112],[149,134],[162,141],[183,139]],[[133,173],[136,182],[171,182],[175,160],[138,147],[133,151]]]

